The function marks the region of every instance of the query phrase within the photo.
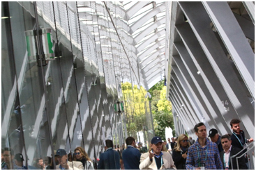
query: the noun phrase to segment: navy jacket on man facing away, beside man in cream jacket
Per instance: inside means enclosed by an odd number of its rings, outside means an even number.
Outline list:
[[[140,151],[128,146],[122,153],[123,165],[126,170],[140,170]]]

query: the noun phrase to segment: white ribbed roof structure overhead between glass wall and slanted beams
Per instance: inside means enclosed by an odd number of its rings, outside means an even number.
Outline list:
[[[95,5],[94,2],[78,2],[78,6],[80,21],[84,20],[92,34],[96,33],[93,25],[102,25],[98,44],[104,51],[103,58],[108,60],[107,54],[123,57],[120,62],[124,67],[115,68],[117,72],[122,70],[122,80],[133,81],[149,90],[164,79],[170,2],[96,2]],[[106,13],[110,14],[109,18],[104,17]],[[103,17],[93,19],[96,15]],[[110,31],[109,35],[106,35],[107,31]],[[125,65],[130,65],[133,70]]]

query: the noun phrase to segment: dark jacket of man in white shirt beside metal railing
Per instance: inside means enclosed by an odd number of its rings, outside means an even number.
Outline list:
[[[241,149],[236,148],[232,145],[229,158],[231,156],[234,156],[235,154],[239,153],[240,151],[241,151]],[[224,151],[220,152],[220,160],[223,163],[223,169],[225,169],[223,156],[224,156]],[[230,160],[231,160],[231,158],[229,159],[229,170],[232,169]],[[237,170],[236,158],[232,158],[232,163],[233,163],[233,170]],[[239,170],[247,170],[246,159],[244,157],[239,158]]]

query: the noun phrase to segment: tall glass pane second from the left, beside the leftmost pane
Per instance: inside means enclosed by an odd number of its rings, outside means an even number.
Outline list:
[[[40,67],[41,64],[37,63],[39,51],[34,41],[36,32],[31,31],[36,29],[34,6],[30,2],[9,2],[9,8],[15,70],[19,73],[17,86],[26,146],[26,152],[22,150],[22,154],[28,160],[29,169],[43,169],[47,164],[43,162],[43,159],[51,156],[52,152],[49,149],[50,131],[45,108],[45,85],[43,82],[45,68]],[[29,51],[27,51],[27,47]],[[26,153],[27,155],[24,155]]]

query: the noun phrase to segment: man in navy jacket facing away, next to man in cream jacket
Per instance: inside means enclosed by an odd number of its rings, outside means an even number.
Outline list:
[[[127,148],[123,151],[123,164],[126,170],[140,170],[140,151],[136,149],[135,139],[126,138]]]

